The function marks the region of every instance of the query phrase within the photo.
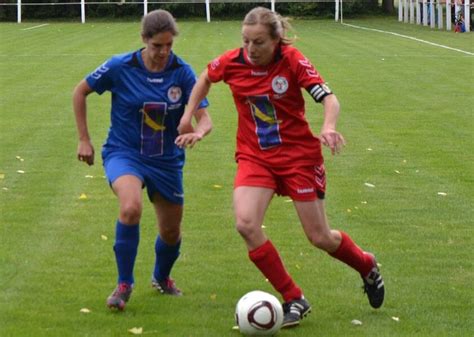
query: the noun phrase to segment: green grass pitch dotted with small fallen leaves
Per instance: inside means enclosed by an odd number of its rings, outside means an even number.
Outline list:
[[[386,302],[371,309],[358,275],[313,249],[291,202],[275,198],[266,231],[313,304],[301,327],[279,335],[472,336],[474,35],[396,19],[347,22],[471,54],[333,21],[293,21],[296,46],[342,106],[347,146],[336,157],[325,151],[328,216],[377,254]],[[71,93],[112,54],[140,48],[140,26],[137,19],[25,30],[43,23],[0,24],[0,336],[127,336],[142,327],[146,336],[238,337],[240,296],[275,292],[233,227],[236,112],[228,88],[213,87],[214,130],[187,154],[184,240],[172,274],[185,296],[150,287],[156,229],[146,204],[135,291],[125,312],[110,312],[117,201],[99,155],[110,97],[88,101],[97,152],[89,168],[75,158]],[[197,72],[240,44],[236,21],[179,24],[174,50]],[[318,132],[321,106],[311,99],[307,116]]]

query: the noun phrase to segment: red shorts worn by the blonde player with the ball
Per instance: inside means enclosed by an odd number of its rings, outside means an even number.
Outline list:
[[[326,173],[324,165],[270,168],[239,159],[234,188],[239,186],[271,188],[295,201],[312,201],[324,199]]]

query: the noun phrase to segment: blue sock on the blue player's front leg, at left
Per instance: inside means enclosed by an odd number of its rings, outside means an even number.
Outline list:
[[[115,260],[118,268],[118,283],[133,284],[133,266],[140,241],[139,225],[124,225],[117,220],[115,227]]]

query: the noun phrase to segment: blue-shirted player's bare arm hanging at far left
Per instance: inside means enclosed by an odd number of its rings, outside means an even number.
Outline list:
[[[77,146],[77,159],[87,163],[94,164],[94,146],[91,143],[89,130],[87,128],[87,95],[92,92],[91,87],[85,80],[79,82],[74,88],[72,104],[74,115],[76,117],[77,132],[79,135],[79,144]]]

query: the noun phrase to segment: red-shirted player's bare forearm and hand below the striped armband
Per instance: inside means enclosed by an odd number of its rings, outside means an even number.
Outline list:
[[[321,102],[324,107],[324,122],[321,128],[321,143],[331,149],[331,153],[337,154],[342,147],[346,145],[346,141],[342,134],[336,131],[337,119],[339,117],[339,101],[336,95],[328,95]]]

